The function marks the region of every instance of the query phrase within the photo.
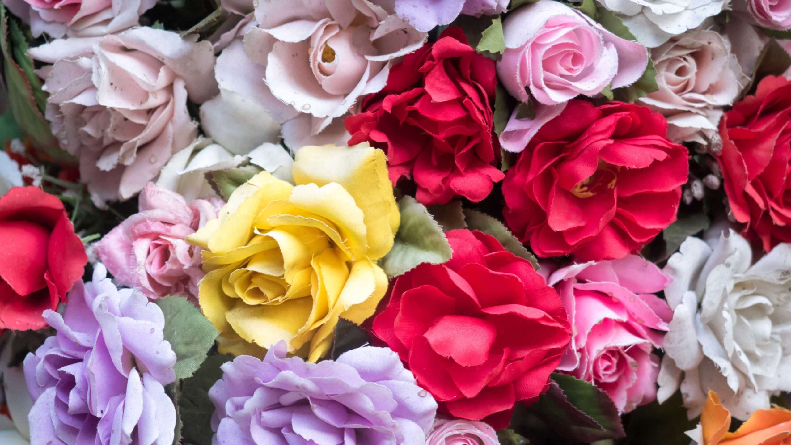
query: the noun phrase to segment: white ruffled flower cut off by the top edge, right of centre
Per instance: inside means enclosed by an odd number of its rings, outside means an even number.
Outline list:
[[[656,48],[727,9],[727,0],[603,0],[641,44]]]

